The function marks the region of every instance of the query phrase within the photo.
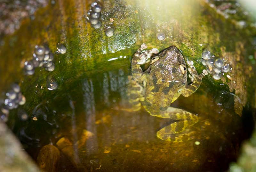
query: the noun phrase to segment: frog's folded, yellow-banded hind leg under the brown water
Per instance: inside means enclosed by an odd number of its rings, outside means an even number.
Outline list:
[[[159,130],[156,134],[159,139],[182,142],[194,138],[195,132],[190,132],[189,127],[198,122],[198,117],[195,114],[182,109],[168,107],[165,111],[160,111],[153,116],[180,120]]]

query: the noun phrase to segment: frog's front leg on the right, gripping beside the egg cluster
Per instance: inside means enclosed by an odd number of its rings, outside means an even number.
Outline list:
[[[184,97],[188,97],[192,95],[194,92],[196,92],[196,90],[202,83],[202,78],[205,75],[208,75],[208,72],[205,69],[203,70],[202,74],[198,75],[196,68],[193,65],[193,61],[188,61],[188,72],[190,74],[188,76],[191,79],[192,83],[180,91],[180,93]]]

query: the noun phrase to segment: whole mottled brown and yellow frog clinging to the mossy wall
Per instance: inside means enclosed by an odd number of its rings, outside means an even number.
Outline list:
[[[138,111],[142,105],[152,116],[179,120],[159,130],[159,139],[172,142],[193,139],[193,132],[186,130],[198,122],[198,117],[170,105],[180,94],[185,97],[192,95],[200,86],[203,76],[208,74],[207,71],[204,70],[198,75],[192,61],[188,62],[187,68],[179,49],[171,46],[152,57],[150,66],[143,72],[141,64],[158,53],[156,48],[143,51],[146,48],[147,46],[142,44],[132,58],[132,76],[128,78],[128,97],[132,108],[126,110]],[[189,85],[187,71],[192,81]]]

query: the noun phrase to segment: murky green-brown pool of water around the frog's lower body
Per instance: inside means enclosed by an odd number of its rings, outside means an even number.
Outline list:
[[[111,71],[67,79],[42,99],[28,121],[15,122],[14,133],[35,161],[44,145],[58,147],[56,171],[213,172],[236,161],[252,130],[251,112],[244,110],[243,118],[235,114],[227,87],[214,89],[205,78],[195,94],[180,96],[172,107],[198,115],[191,127],[195,139],[169,142],[156,132],[175,120],[152,117],[143,108],[122,110],[128,104],[127,75],[129,66],[116,62]],[[63,140],[69,143],[65,148]]]

